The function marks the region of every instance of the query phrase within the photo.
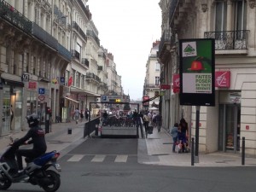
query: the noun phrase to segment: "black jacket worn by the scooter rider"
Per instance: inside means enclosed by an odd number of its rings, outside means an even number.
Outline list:
[[[30,138],[32,138],[32,140],[30,140],[28,144],[33,143],[32,149],[37,152],[45,153],[47,146],[44,138],[44,130],[39,126],[31,127],[30,130],[27,131],[26,136],[13,143],[13,146],[20,146]]]

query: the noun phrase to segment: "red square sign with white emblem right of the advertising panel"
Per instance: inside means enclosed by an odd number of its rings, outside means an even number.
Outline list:
[[[230,87],[230,71],[215,72],[215,87]]]

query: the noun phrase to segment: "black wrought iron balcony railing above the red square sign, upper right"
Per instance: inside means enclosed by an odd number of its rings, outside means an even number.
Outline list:
[[[205,32],[205,38],[215,38],[215,49],[247,49],[248,30]]]

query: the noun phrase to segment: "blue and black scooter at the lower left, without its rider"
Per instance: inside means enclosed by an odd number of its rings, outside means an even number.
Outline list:
[[[11,143],[13,139],[10,137]],[[61,166],[57,163],[60,153],[51,151],[34,160],[25,158],[26,168],[17,176],[15,152],[19,147],[10,145],[0,157],[0,190],[9,189],[12,183],[31,183],[46,192],[55,192],[61,186]],[[49,167],[53,166],[57,172]]]

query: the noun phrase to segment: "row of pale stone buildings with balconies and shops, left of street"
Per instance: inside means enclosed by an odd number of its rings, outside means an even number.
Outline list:
[[[70,121],[107,91],[108,53],[87,2],[0,0],[0,136],[26,129],[31,113],[43,127]]]

